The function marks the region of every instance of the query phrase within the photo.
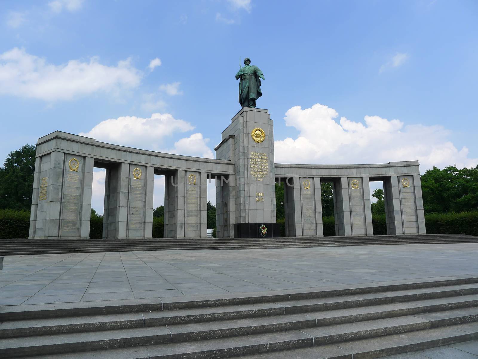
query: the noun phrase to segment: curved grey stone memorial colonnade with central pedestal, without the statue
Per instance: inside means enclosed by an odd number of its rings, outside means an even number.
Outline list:
[[[56,131],[39,138],[31,238],[88,238],[93,168],[106,169],[103,237],[152,238],[154,174],[165,176],[164,237],[207,237],[207,183],[216,182],[218,237],[277,237],[275,183],[286,236],[323,236],[321,183],[332,182],[337,236],[373,235],[370,181],[382,181],[387,232],[425,234],[418,161],[371,165],[274,162],[273,121],[244,107],[216,159],[111,145]]]

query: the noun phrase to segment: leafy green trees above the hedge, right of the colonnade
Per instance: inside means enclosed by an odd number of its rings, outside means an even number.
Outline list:
[[[425,213],[465,212],[478,208],[478,166],[432,168],[421,177]]]

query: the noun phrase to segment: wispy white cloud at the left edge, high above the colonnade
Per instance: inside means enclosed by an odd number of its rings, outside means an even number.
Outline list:
[[[134,88],[140,84],[141,76],[130,59],[117,66],[102,65],[98,57],[88,62],[70,60],[53,65],[17,47],[0,55],[0,94],[44,101]]]

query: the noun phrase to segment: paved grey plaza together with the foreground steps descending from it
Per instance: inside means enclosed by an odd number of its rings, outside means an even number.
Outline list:
[[[478,244],[453,243],[7,256],[0,358],[374,359],[468,348],[478,339],[477,255]]]

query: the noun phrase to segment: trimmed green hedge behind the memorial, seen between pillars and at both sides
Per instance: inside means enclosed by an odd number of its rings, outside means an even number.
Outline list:
[[[285,220],[277,221],[281,236],[285,236]],[[373,233],[376,236],[387,234],[385,215],[373,215]],[[478,236],[478,211],[463,213],[436,213],[425,216],[426,233],[466,233]],[[0,209],[0,239],[28,238],[30,212]],[[324,236],[335,236],[334,217],[323,218]],[[163,238],[163,217],[153,217],[152,236]],[[101,238],[103,235],[103,216],[92,215],[90,222],[90,238]]]

